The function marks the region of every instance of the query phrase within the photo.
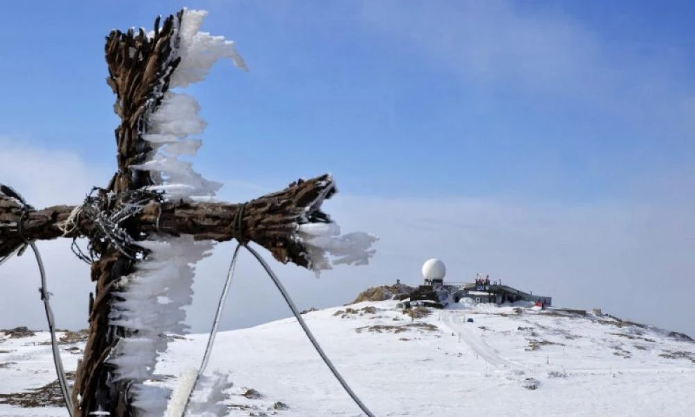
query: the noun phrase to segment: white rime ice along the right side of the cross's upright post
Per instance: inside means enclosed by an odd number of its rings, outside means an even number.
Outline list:
[[[232,58],[237,66],[245,68],[232,42],[198,33],[206,14],[185,10],[179,26],[174,26],[178,38],[172,37],[170,59],[180,57],[181,62],[170,78],[170,88],[202,81],[213,63],[221,58]],[[199,110],[198,102],[190,95],[167,91],[156,110],[145,114],[146,123],[140,134],[155,151],[147,161],[131,168],[150,172],[155,185],[149,189],[162,191],[166,199],[209,201],[222,186],[204,179],[191,163],[179,160],[179,156],[195,156],[202,143],[193,137],[206,127],[206,122],[198,116]],[[209,254],[213,243],[196,242],[193,236],[151,236],[140,245],[152,252],[138,263],[136,272],[122,278],[117,293],[120,299],[113,303],[110,316],[111,325],[124,327],[133,336],[120,339],[108,363],[116,366],[115,380],[133,382],[129,393],[138,416],[163,416],[170,390],[147,381],[154,375],[158,354],[167,349],[165,335],[188,330],[183,308],[193,300],[193,265]],[[197,415],[222,415],[215,404],[226,387],[221,379],[208,384],[206,400],[200,404],[192,402],[189,411]],[[203,384],[197,391],[205,389]],[[181,407],[180,398],[177,404]]]

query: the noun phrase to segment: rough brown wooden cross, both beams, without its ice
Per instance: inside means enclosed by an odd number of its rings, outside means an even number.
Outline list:
[[[30,240],[65,237],[90,242],[91,279],[96,287],[90,294],[89,338],[72,391],[75,417],[95,411],[118,417],[138,414],[129,391],[133,381],[115,379],[117,366],[107,360],[122,338],[137,336],[136,331],[110,322],[110,314],[113,302],[121,297],[115,291],[120,281],[149,254],[138,243],[158,234],[190,235],[195,240],[253,242],[278,261],[304,268],[318,268],[316,256],[324,259],[321,248],[309,247],[297,229],[302,224],[331,223],[321,211],[322,202],[336,193],[329,175],[300,179],[245,204],[227,204],[167,199],[165,194],[147,191],[161,184],[161,179],[133,168],[157,151],[143,138],[146,116],[157,111],[180,63],[177,47],[183,16],[181,10],[161,26],[156,19],[154,35],[131,29],[112,31],[106,38],[107,81],[117,96],[115,112],[121,124],[115,130],[118,170],[105,189],[97,190],[80,212],[75,206],[36,210],[7,190],[0,193],[0,259]],[[131,214],[119,220],[118,213]]]

